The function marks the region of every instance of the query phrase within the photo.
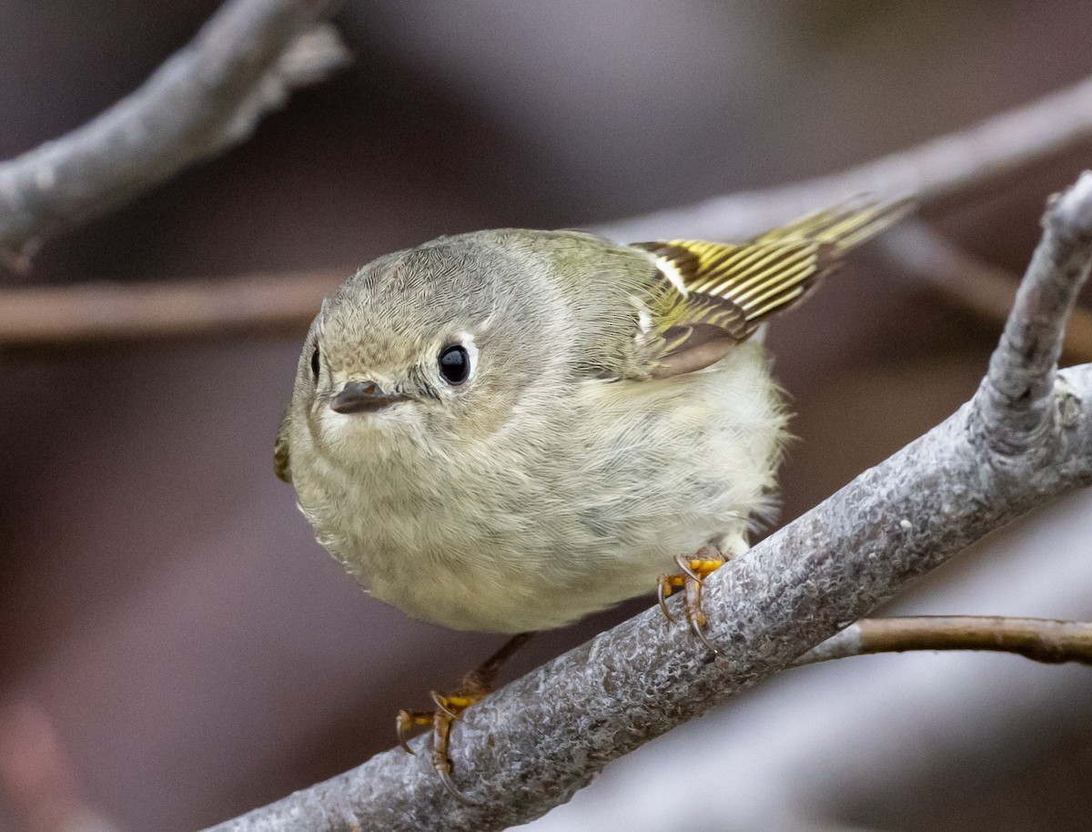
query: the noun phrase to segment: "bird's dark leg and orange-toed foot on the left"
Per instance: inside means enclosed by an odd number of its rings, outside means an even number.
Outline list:
[[[455,720],[462,718],[463,711],[492,691],[492,684],[497,680],[500,668],[531,640],[532,635],[533,632],[513,635],[501,645],[500,650],[466,674],[451,693],[431,691],[429,696],[436,703],[435,711],[399,711],[396,722],[399,745],[410,753],[413,753],[407,741],[410,730],[416,725],[432,726],[432,768],[440,776],[443,787],[460,803],[470,804],[451,778],[451,759],[448,756],[451,725]]]

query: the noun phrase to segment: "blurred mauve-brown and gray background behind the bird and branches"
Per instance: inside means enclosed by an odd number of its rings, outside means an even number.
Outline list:
[[[0,157],[138,86],[211,0],[5,0]],[[838,170],[1072,83],[1082,0],[351,3],[351,69],[49,242],[16,283],[340,269]],[[1019,272],[1092,146],[926,218]],[[951,413],[998,326],[863,251],[769,335],[791,520]],[[272,444],[292,337],[0,354],[0,830],[200,828],[394,742],[501,641],[408,620],[313,543]],[[1078,495],[899,610],[1092,616]],[[651,603],[542,637],[526,669]],[[708,784],[720,782],[710,788]],[[786,673],[609,766],[539,830],[1085,830],[1092,671],[903,655]]]

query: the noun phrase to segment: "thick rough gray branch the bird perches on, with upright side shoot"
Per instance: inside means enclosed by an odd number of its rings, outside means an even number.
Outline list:
[[[971,402],[709,579],[714,658],[660,610],[472,708],[453,732],[461,806],[394,749],[215,827],[496,830],[565,803],[608,762],[772,676],[914,579],[1092,483],[1092,365],[1057,372],[1092,262],[1092,174],[1056,200],[989,375]],[[674,599],[673,599],[674,601]]]

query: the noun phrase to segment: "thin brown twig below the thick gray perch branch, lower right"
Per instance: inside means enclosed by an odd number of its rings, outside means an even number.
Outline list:
[[[907,650],[990,650],[1047,664],[1092,665],[1092,623],[1001,616],[863,618],[793,664]]]

